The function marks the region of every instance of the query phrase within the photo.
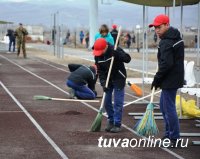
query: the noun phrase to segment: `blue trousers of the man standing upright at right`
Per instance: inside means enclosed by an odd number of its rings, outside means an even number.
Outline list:
[[[160,96],[160,110],[165,122],[165,136],[170,139],[180,138],[179,119],[176,112],[177,89],[163,89]]]

